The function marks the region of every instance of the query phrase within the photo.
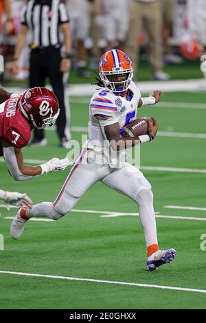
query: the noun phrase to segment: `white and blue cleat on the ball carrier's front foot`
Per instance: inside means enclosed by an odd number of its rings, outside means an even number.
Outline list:
[[[153,271],[158,269],[161,265],[172,263],[175,256],[175,249],[157,250],[157,252],[153,252],[153,254],[148,257],[147,269]]]

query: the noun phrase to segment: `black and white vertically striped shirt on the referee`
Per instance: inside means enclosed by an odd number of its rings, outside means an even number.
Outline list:
[[[29,0],[21,13],[21,24],[30,30],[33,48],[61,45],[60,25],[67,22],[67,9],[59,0]]]

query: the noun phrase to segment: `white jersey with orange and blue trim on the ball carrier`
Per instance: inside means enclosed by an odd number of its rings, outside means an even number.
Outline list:
[[[126,125],[136,119],[140,98],[141,93],[135,82],[130,82],[128,98],[116,96],[106,88],[95,91],[89,105],[89,140],[84,143],[83,148],[107,155],[109,144],[104,134],[104,126],[118,122],[120,133],[123,133]],[[113,161],[108,160],[108,164],[113,164]]]

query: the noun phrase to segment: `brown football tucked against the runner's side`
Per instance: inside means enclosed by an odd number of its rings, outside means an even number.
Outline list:
[[[153,124],[152,118],[136,119],[126,126],[122,137],[138,137],[139,135],[146,135],[148,133],[147,119],[150,119]]]

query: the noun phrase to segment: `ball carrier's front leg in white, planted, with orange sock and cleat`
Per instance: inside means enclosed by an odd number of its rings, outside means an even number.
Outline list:
[[[107,186],[125,194],[138,203],[139,219],[144,229],[148,252],[148,269],[154,270],[163,265],[163,263],[171,262],[175,256],[174,249],[168,249],[166,254],[165,251],[160,251],[161,254],[159,253],[152,189],[142,172],[126,163],[122,168],[116,169],[104,177],[102,181]],[[157,253],[159,254],[157,259],[159,262],[154,264],[153,258],[155,256],[157,258]],[[163,256],[165,259],[162,259]]]

